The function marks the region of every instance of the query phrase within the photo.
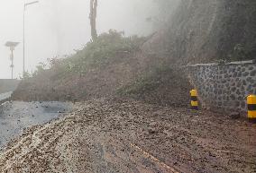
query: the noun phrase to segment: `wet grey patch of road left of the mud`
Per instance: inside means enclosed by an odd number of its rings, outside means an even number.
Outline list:
[[[0,105],[0,149],[22,134],[23,129],[41,125],[73,110],[69,102],[10,101]]]

